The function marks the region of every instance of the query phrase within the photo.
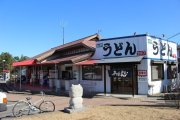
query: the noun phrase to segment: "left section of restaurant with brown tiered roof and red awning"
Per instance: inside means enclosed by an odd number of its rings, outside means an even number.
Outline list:
[[[79,80],[79,66],[76,63],[91,58],[99,35],[94,34],[73,42],[54,47],[29,60],[13,63],[26,75],[20,76],[22,84],[47,86],[56,91],[68,90],[70,81]]]

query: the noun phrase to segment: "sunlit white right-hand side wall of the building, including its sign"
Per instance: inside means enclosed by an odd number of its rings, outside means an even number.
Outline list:
[[[172,49],[173,56],[170,56],[167,54],[168,46],[170,49]],[[156,49],[154,49],[154,47],[156,47]],[[161,54],[161,50],[163,54]],[[164,79],[152,81],[151,60],[155,60],[155,61],[162,60],[164,62],[169,61],[169,60],[176,61],[177,60],[177,44],[174,42],[147,36],[147,59],[148,59],[148,84],[149,84],[148,94],[152,95],[152,94],[161,93],[163,91],[163,87],[167,86],[170,82],[167,79],[167,64],[164,63]]]

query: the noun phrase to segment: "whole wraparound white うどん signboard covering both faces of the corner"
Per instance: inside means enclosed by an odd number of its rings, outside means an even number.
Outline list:
[[[144,56],[150,59],[176,60],[177,45],[174,42],[151,36],[131,36],[97,41],[93,59]]]

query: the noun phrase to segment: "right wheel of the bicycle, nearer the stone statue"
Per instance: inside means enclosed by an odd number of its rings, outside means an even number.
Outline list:
[[[39,105],[39,109],[42,112],[53,112],[55,110],[55,105],[52,101],[43,101],[40,105]]]

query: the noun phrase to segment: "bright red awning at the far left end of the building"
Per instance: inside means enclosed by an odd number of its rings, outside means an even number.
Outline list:
[[[36,64],[36,60],[24,60],[24,61],[21,61],[21,62],[14,62],[13,63],[13,66],[16,67],[16,66],[29,66],[29,65],[34,65]]]

